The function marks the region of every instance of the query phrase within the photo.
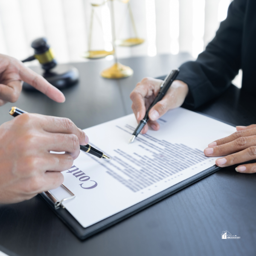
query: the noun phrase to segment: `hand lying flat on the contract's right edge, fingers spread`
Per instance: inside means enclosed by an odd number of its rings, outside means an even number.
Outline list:
[[[216,160],[219,167],[231,166],[256,159],[256,125],[237,126],[236,132],[228,137],[216,140],[204,150],[207,157],[221,157]],[[254,173],[256,163],[236,167],[236,172]]]

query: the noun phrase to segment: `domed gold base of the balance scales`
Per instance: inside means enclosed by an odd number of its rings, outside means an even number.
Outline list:
[[[119,79],[131,76],[133,74],[133,70],[128,67],[120,64],[119,62],[113,64],[112,67],[103,70],[100,74],[104,78],[108,79]]]

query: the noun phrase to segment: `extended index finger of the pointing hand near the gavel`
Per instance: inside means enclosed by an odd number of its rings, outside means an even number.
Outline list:
[[[44,93],[55,102],[65,101],[65,96],[60,90],[23,64],[20,64],[20,78],[24,82],[35,87],[35,89],[41,91],[41,93]]]

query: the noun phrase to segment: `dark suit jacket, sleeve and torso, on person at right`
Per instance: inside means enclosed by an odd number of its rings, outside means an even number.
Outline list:
[[[243,70],[242,88],[256,95],[256,0],[234,0],[227,19],[196,61],[180,66],[194,108],[219,96]]]

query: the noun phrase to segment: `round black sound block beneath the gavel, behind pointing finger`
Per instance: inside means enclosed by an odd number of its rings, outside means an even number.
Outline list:
[[[32,70],[43,76],[50,84],[59,90],[71,87],[79,81],[78,70],[70,65],[59,65],[48,72],[45,72],[41,67],[33,67]],[[22,89],[26,91],[37,91],[34,87],[25,82],[23,83]]]

